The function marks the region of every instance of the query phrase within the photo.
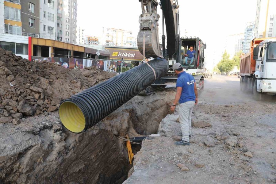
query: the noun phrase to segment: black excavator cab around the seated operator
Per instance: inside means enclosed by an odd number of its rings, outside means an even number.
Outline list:
[[[186,60],[185,61],[185,54],[188,50],[190,50],[190,46],[194,47],[195,54],[193,60]],[[183,68],[188,69],[202,69],[204,67],[204,49],[206,48],[206,44],[202,42],[198,37],[182,37],[180,39],[180,59],[179,62],[182,64]],[[189,58],[189,56],[188,56]]]

